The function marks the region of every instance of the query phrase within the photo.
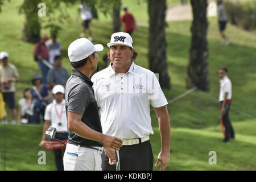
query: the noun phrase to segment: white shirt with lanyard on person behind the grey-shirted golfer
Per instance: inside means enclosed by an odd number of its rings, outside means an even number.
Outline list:
[[[57,132],[68,132],[65,100],[60,104],[57,104],[56,100],[53,100],[51,104],[47,105],[44,120],[51,121],[50,127],[55,127]]]

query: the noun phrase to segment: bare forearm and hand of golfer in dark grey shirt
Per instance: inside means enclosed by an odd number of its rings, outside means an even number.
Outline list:
[[[68,130],[73,131],[82,138],[95,140],[104,144],[105,147],[119,150],[122,147],[122,140],[116,137],[104,135],[97,131],[90,129],[81,121],[82,115],[68,111]]]

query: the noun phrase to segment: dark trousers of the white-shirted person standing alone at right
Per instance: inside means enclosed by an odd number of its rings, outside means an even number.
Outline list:
[[[222,106],[222,102],[221,102],[221,106]],[[223,124],[225,126],[225,138],[224,140],[229,140],[229,138],[234,138],[234,130],[233,127],[231,125],[230,119],[229,119],[229,109],[230,109],[230,104],[226,103],[226,110],[225,110],[225,114],[222,117],[222,121]]]

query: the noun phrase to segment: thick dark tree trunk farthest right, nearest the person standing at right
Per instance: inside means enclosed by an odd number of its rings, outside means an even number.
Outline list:
[[[207,0],[191,0],[191,5],[193,23],[187,88],[197,86],[200,90],[209,91]]]

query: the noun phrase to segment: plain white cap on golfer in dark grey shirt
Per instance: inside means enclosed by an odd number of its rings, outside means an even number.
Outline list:
[[[81,38],[72,42],[68,47],[68,57],[71,62],[77,62],[92,55],[93,52],[103,51],[101,44],[93,45],[90,40]]]

